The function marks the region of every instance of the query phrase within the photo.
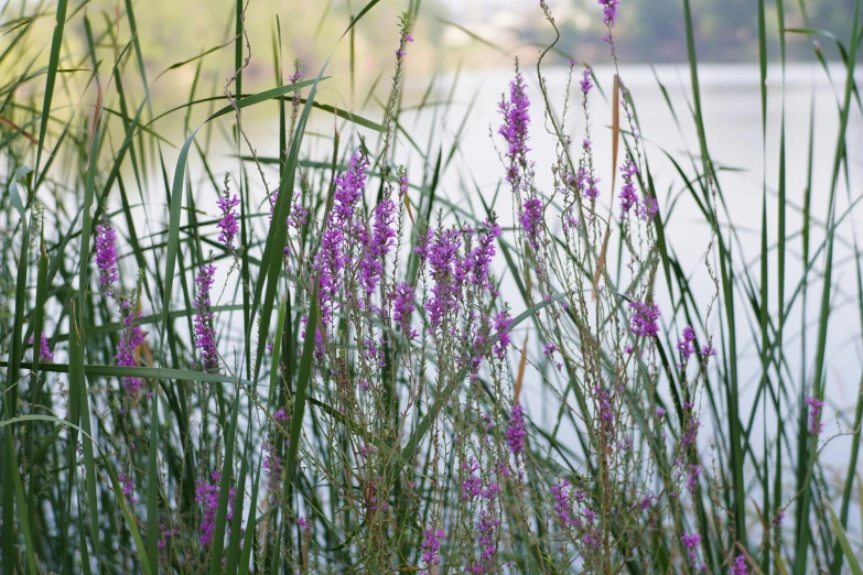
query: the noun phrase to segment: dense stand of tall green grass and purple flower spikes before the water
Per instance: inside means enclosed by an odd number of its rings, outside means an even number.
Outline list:
[[[548,66],[569,55],[551,9],[536,10],[552,41],[500,86],[494,193],[474,184],[486,167],[461,145],[473,104],[454,137],[434,129],[422,142],[409,126],[416,115],[436,128],[467,99],[456,74],[442,100],[433,76],[406,104],[413,31],[429,18],[419,1],[380,34],[389,82],[356,99],[356,34],[389,10],[378,0],[349,7],[332,39],[346,70],[331,69],[332,54],[317,68],[293,61],[281,20],[247,29],[253,2],[237,0],[228,43],[158,76],[136,25],[144,3],[4,4],[3,573],[861,573],[863,373],[853,413],[829,401],[840,295],[863,332],[863,196],[848,145],[863,112],[860,1],[849,39],[806,28],[803,2],[753,6],[756,265],[709,147],[722,127],[704,120],[697,4],[682,0],[679,14],[687,110],[659,87],[698,149],[670,153],[641,133],[614,47],[626,29],[616,2],[600,3],[614,83],[570,59],[554,72],[561,94]],[[787,28],[788,14],[803,28]],[[51,45],[33,50],[46,19]],[[829,177],[815,165],[827,145],[815,111],[805,142],[786,138],[784,95],[768,120],[770,34],[779,89],[795,35],[835,90]],[[86,48],[72,50],[80,37]],[[204,62],[231,47],[227,82],[207,93]],[[265,85],[247,75],[268,48]],[[177,69],[192,74],[190,94],[158,111],[153,86]],[[348,109],[321,99],[337,73]],[[250,112],[277,127],[277,151],[257,149]],[[612,150],[597,150],[591,133],[606,126]],[[531,154],[542,138],[553,158]],[[808,151],[806,182],[786,177],[792,145]],[[607,181],[598,154],[613,158]],[[652,154],[680,197],[655,186]],[[679,202],[710,231],[694,272],[677,256]],[[753,349],[754,379],[742,372]],[[530,409],[539,393],[553,417]],[[837,411],[850,448],[838,478],[819,457]]]

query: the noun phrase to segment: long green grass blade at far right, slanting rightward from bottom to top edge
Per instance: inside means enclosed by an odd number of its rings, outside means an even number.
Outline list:
[[[848,130],[849,116],[851,112],[851,88],[854,82],[854,65],[856,62],[857,46],[860,36],[857,36],[857,26],[860,23],[860,0],[854,2],[854,15],[852,18],[851,25],[851,42],[849,43],[849,59],[845,77],[845,91],[842,100],[842,108],[840,113],[840,123],[837,134],[837,148],[833,158],[833,170],[830,182],[830,197],[828,200],[828,217],[827,217],[827,254],[824,256],[824,273],[823,273],[823,290],[821,293],[821,310],[818,326],[818,340],[816,348],[816,364],[815,364],[815,379],[813,384],[816,392],[813,393],[817,399],[823,401],[824,389],[823,381],[827,371],[826,366],[826,352],[827,352],[827,332],[828,321],[830,317],[830,295],[832,285],[833,273],[833,245],[835,232],[835,192],[839,184],[840,170],[842,165],[842,158],[845,151],[845,132]],[[802,409],[805,404],[801,405]],[[806,430],[801,430],[802,433]],[[815,457],[817,455],[817,437],[808,437],[801,435],[798,441],[806,442],[807,454],[806,460],[808,463],[807,469],[811,468],[815,464]],[[810,544],[809,533],[809,506],[811,505],[811,490],[810,490],[811,474],[806,474],[800,486],[801,501],[800,511],[798,513],[798,532],[796,541],[796,554],[795,554],[795,575],[803,575],[808,568],[807,556]]]

